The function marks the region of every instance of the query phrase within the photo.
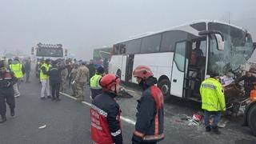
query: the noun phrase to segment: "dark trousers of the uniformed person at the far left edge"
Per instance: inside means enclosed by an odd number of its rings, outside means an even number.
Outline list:
[[[6,103],[10,107],[10,110],[15,108],[14,94],[0,94],[0,114],[6,116]]]

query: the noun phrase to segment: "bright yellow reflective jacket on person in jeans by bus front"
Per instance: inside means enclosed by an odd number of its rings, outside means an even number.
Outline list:
[[[222,84],[214,78],[207,78],[200,86],[202,109],[208,111],[226,110]]]

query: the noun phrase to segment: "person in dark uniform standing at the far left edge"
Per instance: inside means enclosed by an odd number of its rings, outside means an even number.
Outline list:
[[[14,84],[17,82],[17,78],[14,77],[14,73],[10,70],[6,70],[5,62],[0,61],[0,123],[6,122],[6,103],[10,107],[10,116],[14,117]]]

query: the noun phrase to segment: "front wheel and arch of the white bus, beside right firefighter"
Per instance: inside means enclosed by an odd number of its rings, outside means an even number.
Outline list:
[[[158,87],[165,98],[170,96],[170,79],[166,75],[162,75],[158,78]]]

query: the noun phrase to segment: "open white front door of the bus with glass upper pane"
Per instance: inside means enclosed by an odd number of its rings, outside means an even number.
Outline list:
[[[186,74],[186,41],[177,42],[175,45],[174,62],[170,82],[170,94],[182,98],[184,78]]]

